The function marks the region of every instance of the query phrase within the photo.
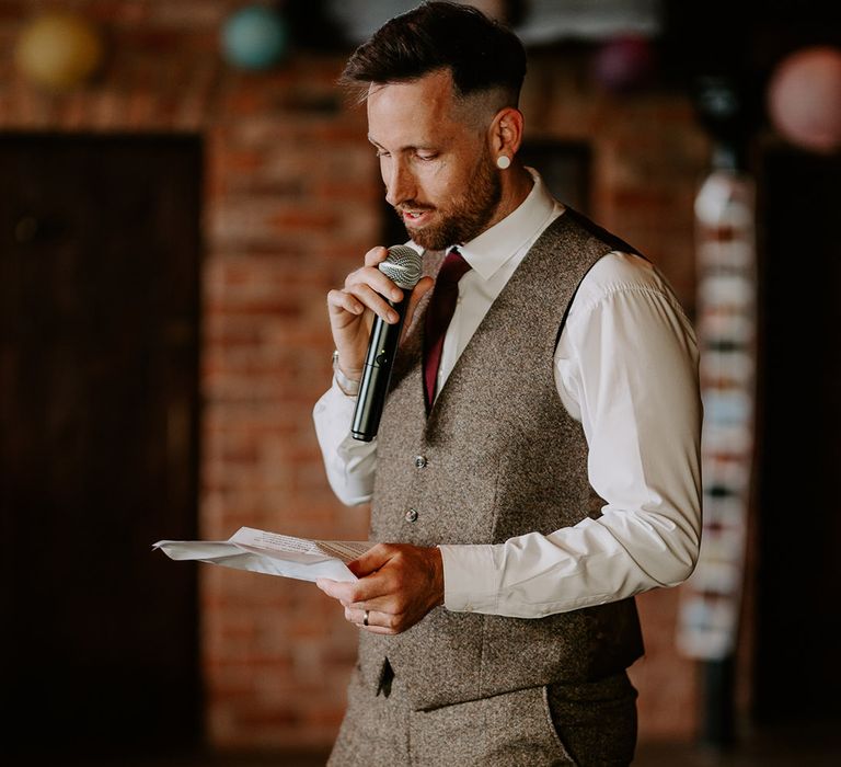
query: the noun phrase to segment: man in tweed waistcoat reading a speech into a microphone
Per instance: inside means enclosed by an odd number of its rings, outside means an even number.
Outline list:
[[[385,249],[327,297],[316,432],[379,541],[357,582],[319,582],[360,629],[334,765],[630,763],[633,595],[694,566],[692,330],[645,259],[518,161],[525,71],[515,35],[443,2],[391,20],[345,69],[428,276],[371,443],[349,427],[372,318],[398,319]],[[436,369],[445,286],[458,304]]]

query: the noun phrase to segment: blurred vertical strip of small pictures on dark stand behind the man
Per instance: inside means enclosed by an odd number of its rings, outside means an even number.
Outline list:
[[[696,107],[713,141],[694,204],[703,530],[695,572],[681,589],[677,641],[683,654],[706,662],[708,710],[724,711],[731,690],[711,679],[736,652],[753,469],[756,185],[742,160],[753,118],[728,78],[703,79]],[[719,724],[721,732],[729,726]]]

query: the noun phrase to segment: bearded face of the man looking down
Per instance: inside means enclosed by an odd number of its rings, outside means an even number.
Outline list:
[[[368,139],[380,158],[385,199],[428,250],[477,237],[499,205],[487,126],[471,125],[465,114],[448,70],[375,84],[368,94]]]

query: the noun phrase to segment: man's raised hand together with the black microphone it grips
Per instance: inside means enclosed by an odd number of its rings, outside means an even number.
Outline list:
[[[343,290],[331,290],[327,305],[339,366],[349,378],[359,378],[352,434],[370,442],[379,427],[404,322],[433,279],[420,278],[420,255],[406,245],[375,248],[365,263],[348,275]],[[373,312],[372,321],[366,309]]]

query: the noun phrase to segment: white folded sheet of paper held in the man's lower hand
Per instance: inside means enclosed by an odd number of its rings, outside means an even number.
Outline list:
[[[371,546],[364,540],[309,540],[241,527],[228,540],[159,540],[152,548],[174,560],[196,560],[266,575],[356,581],[347,562]]]

